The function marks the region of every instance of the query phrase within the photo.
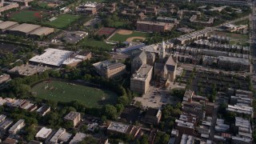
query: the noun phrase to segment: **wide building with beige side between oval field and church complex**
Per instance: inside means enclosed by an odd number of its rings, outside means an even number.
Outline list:
[[[97,62],[93,64],[98,74],[105,78],[113,78],[114,76],[124,74],[126,72],[126,65],[121,62],[110,62],[108,60]]]

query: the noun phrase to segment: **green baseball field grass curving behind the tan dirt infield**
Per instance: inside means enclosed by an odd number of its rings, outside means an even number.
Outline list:
[[[131,37],[143,37],[143,38],[149,38],[150,34],[148,33],[142,33],[142,32],[138,32],[138,31],[133,31],[132,34],[114,34],[109,40],[110,41],[114,41],[114,42],[126,42],[127,38],[131,38]]]

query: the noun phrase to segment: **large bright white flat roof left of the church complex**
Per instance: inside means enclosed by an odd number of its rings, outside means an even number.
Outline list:
[[[50,66],[61,66],[73,54],[71,51],[48,48],[44,54],[30,58],[30,62],[43,63]]]

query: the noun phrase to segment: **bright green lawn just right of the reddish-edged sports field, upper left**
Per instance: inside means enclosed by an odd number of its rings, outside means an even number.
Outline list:
[[[69,26],[70,23],[76,21],[78,18],[79,16],[77,15],[62,14],[62,15],[59,15],[54,21],[45,22],[45,24],[56,27],[58,29],[62,29],[62,28],[65,28],[66,26]]]

